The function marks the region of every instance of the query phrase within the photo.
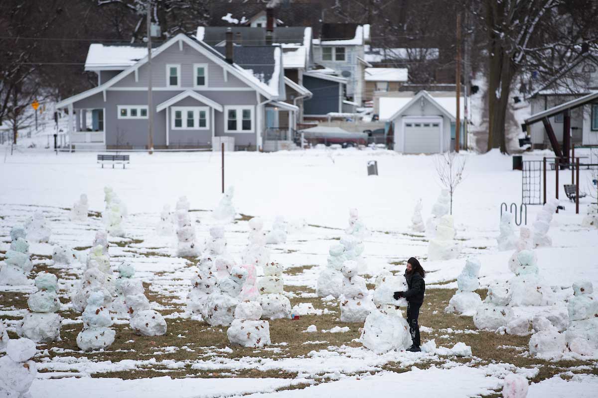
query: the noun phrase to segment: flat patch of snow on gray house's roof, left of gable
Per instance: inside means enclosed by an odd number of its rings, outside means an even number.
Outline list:
[[[124,70],[147,54],[147,47],[90,44],[85,60],[85,70]]]

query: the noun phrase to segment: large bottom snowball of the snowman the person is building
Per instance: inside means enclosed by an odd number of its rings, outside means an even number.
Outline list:
[[[365,318],[359,341],[376,354],[405,350],[411,346],[407,320],[373,310]]]

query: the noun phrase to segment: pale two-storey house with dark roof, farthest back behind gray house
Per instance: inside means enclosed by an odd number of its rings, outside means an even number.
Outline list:
[[[365,68],[364,47],[370,42],[370,25],[323,23],[319,39],[313,39],[313,60],[347,79],[346,95],[359,106],[363,103]],[[316,94],[314,94],[316,95]]]

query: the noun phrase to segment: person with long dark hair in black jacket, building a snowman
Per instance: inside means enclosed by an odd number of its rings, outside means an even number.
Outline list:
[[[411,333],[411,340],[413,345],[407,348],[407,351],[419,352],[421,351],[419,325],[417,318],[419,317],[419,308],[423,304],[423,294],[426,291],[426,282],[423,278],[426,272],[422,265],[417,261],[417,258],[411,257],[407,260],[407,269],[405,270],[405,279],[407,280],[407,291],[395,292],[395,300],[404,297],[407,299],[407,323],[409,324],[409,331]]]

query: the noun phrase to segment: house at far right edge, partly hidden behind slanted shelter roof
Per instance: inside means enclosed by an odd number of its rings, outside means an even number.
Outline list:
[[[527,95],[531,113],[542,112],[575,98],[598,91],[598,57],[595,54],[579,55],[561,72],[545,81]],[[559,144],[563,143],[563,113],[548,118]],[[598,143],[598,104],[588,104],[570,111],[572,144]],[[529,127],[532,147],[545,148],[550,145],[548,134],[542,123]]]

